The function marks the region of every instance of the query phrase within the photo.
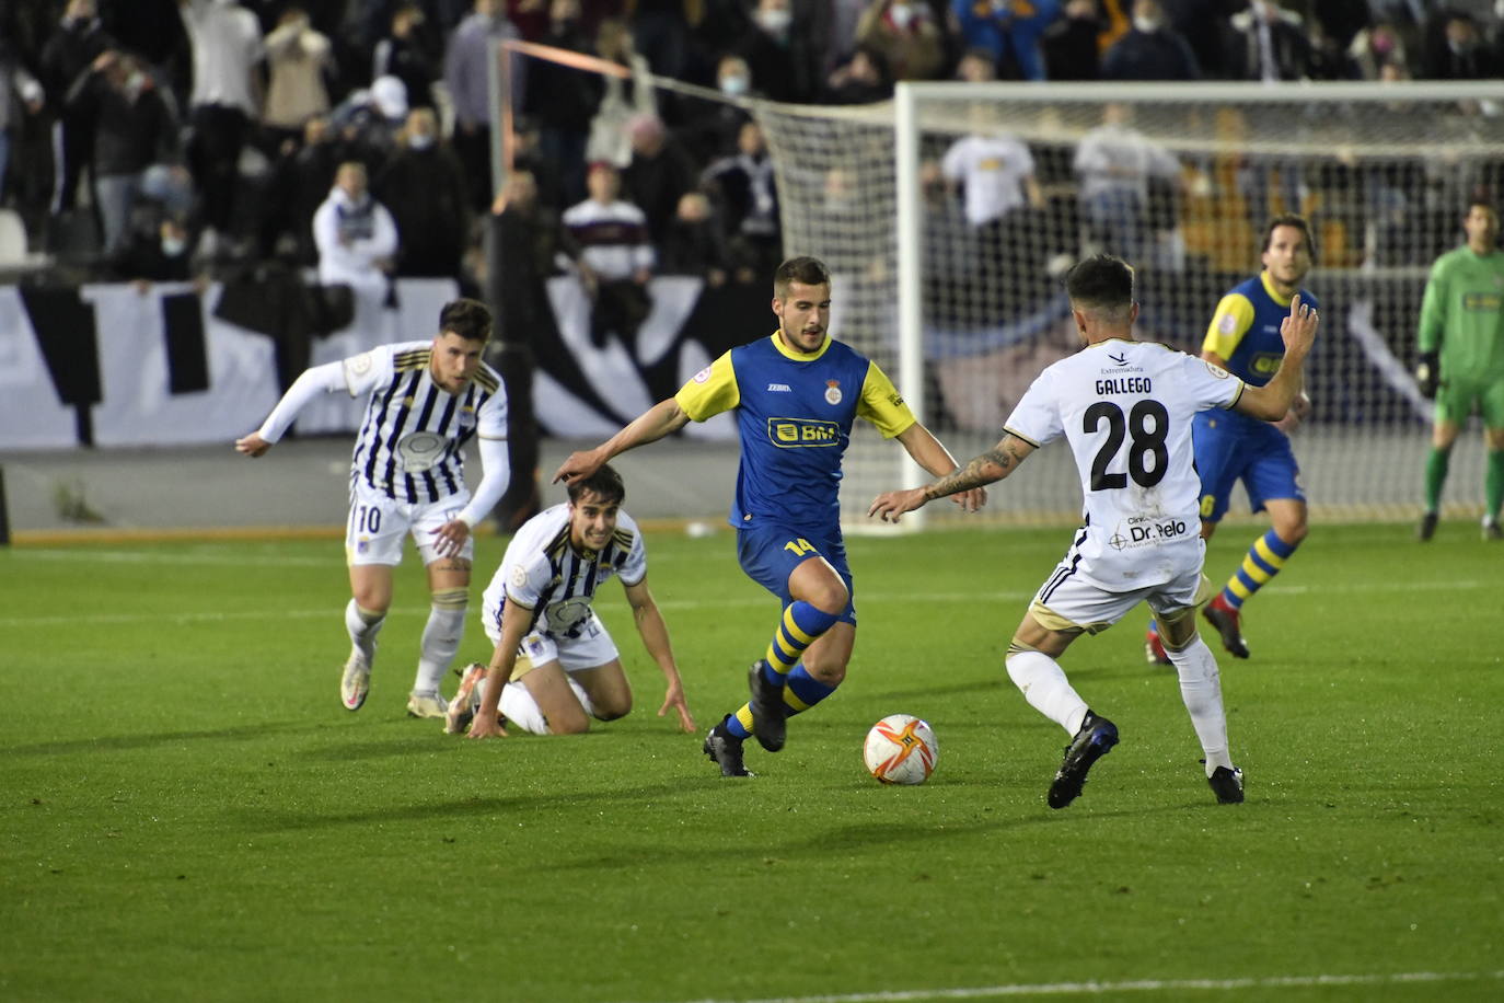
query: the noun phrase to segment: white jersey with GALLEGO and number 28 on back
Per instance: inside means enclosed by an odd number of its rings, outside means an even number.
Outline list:
[[[1191,417],[1232,408],[1244,383],[1154,341],[1113,338],[1044,370],[1005,430],[1030,445],[1065,435],[1084,525],[1066,562],[1108,591],[1158,585],[1202,561]]]

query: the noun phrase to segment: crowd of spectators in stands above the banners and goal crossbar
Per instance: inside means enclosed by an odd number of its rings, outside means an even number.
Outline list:
[[[644,74],[817,104],[895,80],[1504,74],[1493,0],[14,0],[0,18],[0,206],[89,278],[283,260],[474,290],[505,198],[543,274],[578,271],[629,320],[653,272],[761,281],[782,254],[757,125]],[[519,60],[505,192],[498,36],[632,71]]]

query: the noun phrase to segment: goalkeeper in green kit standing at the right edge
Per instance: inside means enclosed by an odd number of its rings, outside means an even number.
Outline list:
[[[1489,460],[1483,538],[1498,540],[1504,502],[1504,251],[1499,214],[1474,200],[1462,218],[1468,242],[1436,259],[1420,307],[1420,392],[1436,398],[1426,459],[1426,514],[1420,538],[1430,540],[1441,513],[1441,486],[1457,432],[1474,405],[1483,412]]]

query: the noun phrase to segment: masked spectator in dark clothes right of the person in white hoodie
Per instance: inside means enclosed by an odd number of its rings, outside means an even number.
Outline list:
[[[471,226],[465,167],[439,135],[433,108],[408,113],[397,152],[371,189],[397,224],[397,275],[457,278]]]

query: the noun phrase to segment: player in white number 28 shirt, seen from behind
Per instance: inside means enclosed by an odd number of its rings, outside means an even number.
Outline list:
[[[1065,292],[1081,350],[1029,385],[991,451],[925,487],[878,495],[868,514],[898,522],[928,501],[1009,477],[1036,448],[1065,436],[1081,477],[1084,520],[1018,624],[1006,659],[1029,705],[1071,735],[1048,805],[1074,801],[1092,764],[1117,744],[1117,728],[1092,713],[1056,659],[1078,636],[1107,630],[1140,601],[1160,621],[1217,800],[1241,801],[1242,771],[1227,749],[1217,659],[1196,633],[1196,606],[1209,582],[1202,574],[1206,541],[1197,534],[1191,420],[1212,408],[1280,420],[1299,391],[1316,311],[1299,296],[1290,301],[1280,323],[1284,361],[1268,383],[1253,386],[1203,359],[1136,341],[1139,304],[1126,262],[1089,257],[1069,271]]]

